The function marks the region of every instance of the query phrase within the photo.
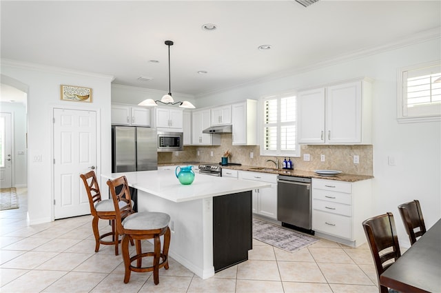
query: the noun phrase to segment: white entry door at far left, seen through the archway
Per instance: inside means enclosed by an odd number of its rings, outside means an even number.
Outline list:
[[[12,187],[11,129],[11,114],[0,113],[0,188]]]

